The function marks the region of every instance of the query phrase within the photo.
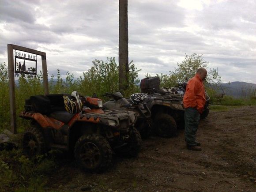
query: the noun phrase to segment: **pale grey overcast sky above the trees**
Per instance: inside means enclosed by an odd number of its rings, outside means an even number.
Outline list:
[[[0,62],[15,44],[45,52],[49,75],[118,64],[118,22],[118,0],[0,0]],[[128,33],[140,79],[197,53],[223,83],[256,83],[256,0],[128,0]]]

